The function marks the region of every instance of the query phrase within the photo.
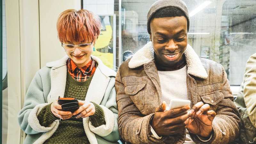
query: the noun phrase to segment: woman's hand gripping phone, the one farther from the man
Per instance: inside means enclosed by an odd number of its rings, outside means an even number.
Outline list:
[[[53,101],[51,104],[52,114],[60,119],[69,119],[72,117],[72,113],[70,111],[62,111],[61,105],[58,104],[58,101]]]

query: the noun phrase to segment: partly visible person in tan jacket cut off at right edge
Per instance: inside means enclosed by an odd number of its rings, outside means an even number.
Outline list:
[[[243,143],[256,143],[256,53],[247,61],[235,104],[242,121],[240,138]],[[242,143],[242,142],[241,142]]]

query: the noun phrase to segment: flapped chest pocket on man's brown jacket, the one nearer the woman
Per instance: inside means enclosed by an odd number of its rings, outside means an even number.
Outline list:
[[[144,93],[146,84],[147,83],[132,84],[127,85],[124,88],[125,94],[130,95],[133,103],[141,112],[144,110]]]

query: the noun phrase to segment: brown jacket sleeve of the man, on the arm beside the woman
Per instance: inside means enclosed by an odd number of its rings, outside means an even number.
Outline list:
[[[116,101],[119,116],[119,133],[125,141],[139,144],[161,143],[165,140],[165,138],[157,140],[150,137],[150,120],[154,114],[143,116],[132,102],[130,96],[125,94],[120,68],[116,74]]]

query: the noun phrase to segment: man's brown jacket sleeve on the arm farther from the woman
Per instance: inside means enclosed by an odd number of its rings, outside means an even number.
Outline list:
[[[240,119],[239,113],[233,102],[234,97],[230,90],[229,81],[224,68],[223,71],[223,86],[221,93],[224,98],[218,103],[216,116],[212,121],[212,139],[208,142],[202,142],[195,134],[191,134],[193,141],[198,144],[228,144],[234,141],[239,135]]]

